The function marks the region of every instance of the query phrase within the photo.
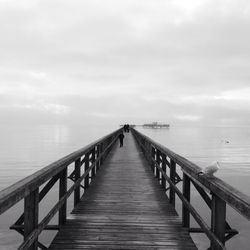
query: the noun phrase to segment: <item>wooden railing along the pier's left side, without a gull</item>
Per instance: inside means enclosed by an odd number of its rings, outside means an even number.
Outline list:
[[[67,199],[74,192],[74,206],[80,201],[80,188],[88,188],[102,165],[112,146],[116,142],[121,129],[95,141],[88,146],[65,156],[36,173],[24,178],[0,192],[0,214],[24,199],[24,213],[10,228],[24,236],[18,249],[47,249],[38,241],[43,230],[58,230],[65,224],[67,216]],[[68,176],[68,167],[74,164],[73,172]],[[68,188],[67,180],[73,185]],[[49,213],[39,222],[39,202],[59,181],[59,201]],[[84,183],[82,185],[82,183]],[[44,184],[39,191],[39,187]],[[58,225],[48,225],[58,212]]]

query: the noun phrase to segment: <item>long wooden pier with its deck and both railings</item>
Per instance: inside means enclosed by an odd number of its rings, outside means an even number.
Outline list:
[[[250,198],[135,129],[120,148],[121,131],[0,192],[0,214],[24,200],[23,214],[10,227],[23,235],[18,249],[197,249],[190,233],[204,233],[211,250],[226,249],[238,233],[226,221],[226,206],[250,220]],[[39,220],[39,204],[56,183],[59,200]],[[211,210],[210,225],[190,202],[194,188]],[[74,209],[67,214],[71,194]],[[58,223],[50,224],[55,215]],[[39,241],[43,230],[58,231],[50,246]]]

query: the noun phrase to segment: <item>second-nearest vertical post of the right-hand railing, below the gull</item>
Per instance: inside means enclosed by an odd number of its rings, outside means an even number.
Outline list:
[[[182,192],[186,200],[190,202],[190,178],[185,173],[183,173]],[[190,213],[183,203],[182,203],[182,225],[183,227],[188,227],[188,228],[190,227]]]

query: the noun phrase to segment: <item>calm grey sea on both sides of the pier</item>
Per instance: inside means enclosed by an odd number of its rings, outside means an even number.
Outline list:
[[[118,129],[118,125],[11,124],[0,125],[0,190],[36,172],[61,157],[82,148],[94,140]],[[137,127],[140,132],[202,168],[219,162],[218,178],[250,196],[250,127],[170,126],[164,129]],[[52,208],[56,189],[43,201],[40,216]],[[210,211],[192,189],[191,203],[210,224]],[[70,203],[70,202],[69,202]],[[72,207],[68,206],[70,212]],[[181,202],[177,199],[177,212]],[[0,249],[17,249],[22,237],[9,227],[23,211],[23,203],[0,215]],[[56,218],[54,219],[56,221]],[[227,206],[227,222],[239,234],[226,243],[229,250],[249,250],[250,222]],[[194,221],[192,225],[196,227]],[[54,237],[44,232],[39,240],[49,245]],[[200,250],[209,247],[203,234],[192,234]]]

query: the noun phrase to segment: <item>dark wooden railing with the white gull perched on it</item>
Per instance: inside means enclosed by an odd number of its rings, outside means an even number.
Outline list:
[[[159,184],[168,193],[169,202],[175,206],[175,196],[182,201],[182,223],[193,233],[205,233],[210,240],[211,250],[226,249],[225,242],[238,232],[226,221],[226,204],[250,220],[250,198],[222,180],[203,174],[201,168],[191,161],[172,152],[135,129],[132,133],[152,167]],[[182,179],[176,171],[180,167]],[[169,175],[167,175],[169,168]],[[177,183],[182,181],[182,190]],[[211,209],[211,226],[207,225],[198,211],[191,205],[191,184]],[[190,227],[190,214],[200,228]]]

